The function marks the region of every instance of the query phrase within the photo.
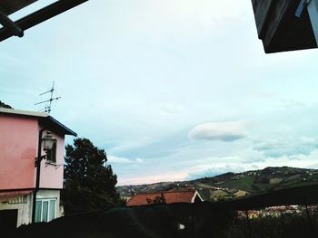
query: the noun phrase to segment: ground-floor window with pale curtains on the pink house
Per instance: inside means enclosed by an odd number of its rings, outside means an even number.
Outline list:
[[[37,199],[35,223],[48,223],[56,218],[56,199]]]

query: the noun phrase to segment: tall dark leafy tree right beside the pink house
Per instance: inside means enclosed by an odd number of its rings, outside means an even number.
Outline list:
[[[117,176],[106,164],[104,149],[94,147],[87,138],[75,138],[74,146],[66,146],[65,162],[65,189],[61,197],[65,214],[124,203],[116,192]]]

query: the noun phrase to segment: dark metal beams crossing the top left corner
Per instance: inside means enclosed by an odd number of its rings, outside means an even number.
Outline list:
[[[62,14],[76,5],[81,5],[88,0],[58,0],[32,14],[26,15],[16,22],[13,22],[9,18],[10,14],[17,12],[36,1],[37,0],[2,0],[0,2],[0,24],[3,25],[0,29],[0,42],[11,36],[22,37],[25,30],[36,24],[41,24],[57,14]]]

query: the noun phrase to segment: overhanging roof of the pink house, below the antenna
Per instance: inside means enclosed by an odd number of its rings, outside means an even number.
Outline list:
[[[39,120],[40,125],[44,128],[59,131],[64,135],[71,135],[77,137],[75,131],[67,128],[57,119],[54,119],[53,117],[44,112],[0,108],[0,114],[37,118]]]

